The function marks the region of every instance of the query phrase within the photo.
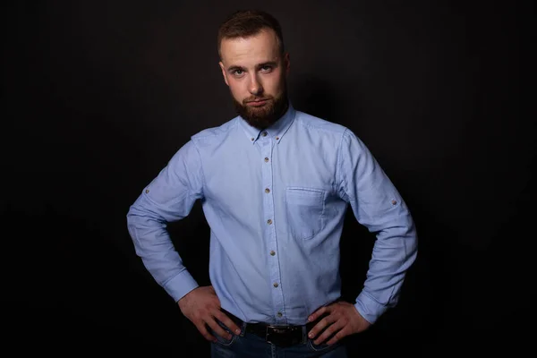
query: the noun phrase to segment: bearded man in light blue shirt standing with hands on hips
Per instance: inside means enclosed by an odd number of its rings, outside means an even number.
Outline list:
[[[417,252],[411,214],[353,132],[291,105],[276,19],[234,13],[218,51],[238,116],[193,135],[144,188],[127,215],[136,252],[213,357],[345,357],[342,338],[396,304]],[[195,200],[210,226],[212,286],[198,286],[166,232]],[[338,300],[349,205],[377,235],[354,303]]]

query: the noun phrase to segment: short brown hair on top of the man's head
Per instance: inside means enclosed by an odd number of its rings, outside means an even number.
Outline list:
[[[220,46],[225,38],[247,38],[257,35],[263,29],[274,30],[280,54],[284,54],[284,36],[277,19],[261,10],[239,10],[229,15],[218,28],[218,55],[222,57]]]

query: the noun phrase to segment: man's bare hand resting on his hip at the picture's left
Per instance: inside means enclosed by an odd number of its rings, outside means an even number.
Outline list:
[[[209,341],[216,342],[214,337],[207,329],[212,328],[218,336],[231,339],[232,336],[224,328],[218,325],[217,320],[222,322],[235,334],[240,334],[241,329],[227,317],[226,313],[220,311],[220,300],[215,293],[213,286],[200,286],[194,288],[188,294],[185,294],[177,304],[183,315],[198,328],[201,335]],[[206,326],[207,325],[207,326]]]

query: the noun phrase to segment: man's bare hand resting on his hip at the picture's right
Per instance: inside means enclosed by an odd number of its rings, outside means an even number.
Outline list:
[[[313,341],[315,345],[320,345],[330,336],[332,337],[327,342],[327,345],[333,345],[343,337],[360,333],[371,326],[371,323],[365,320],[351,303],[337,302],[321,307],[313,312],[308,320],[317,320],[323,314],[327,316],[320,320],[315,327],[311,328],[308,334],[310,338],[316,337]],[[324,332],[317,337],[324,328],[326,328]]]

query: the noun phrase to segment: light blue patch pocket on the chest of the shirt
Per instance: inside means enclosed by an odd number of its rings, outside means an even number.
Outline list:
[[[294,238],[307,240],[319,234],[323,227],[324,195],[319,189],[287,188],[287,219]]]

